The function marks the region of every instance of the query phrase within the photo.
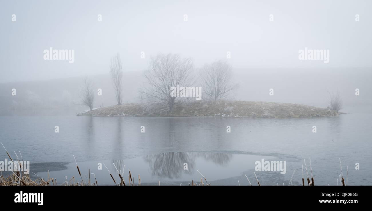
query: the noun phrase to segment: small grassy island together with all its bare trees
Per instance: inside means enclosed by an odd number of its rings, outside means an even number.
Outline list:
[[[110,76],[118,104],[93,108],[93,83],[84,78],[80,104],[88,106],[89,110],[76,115],[311,118],[339,116],[342,108],[338,91],[336,94],[329,93],[327,108],[294,103],[232,100],[234,98],[230,94],[239,89],[239,84],[232,81],[232,66],[223,59],[205,64],[196,75],[193,71],[191,58],[159,53],[151,57],[148,69],[144,71],[145,83],[138,88],[140,103],[123,104],[122,61],[118,54],[111,58],[110,63]],[[272,88],[269,91],[269,95],[274,95]]]

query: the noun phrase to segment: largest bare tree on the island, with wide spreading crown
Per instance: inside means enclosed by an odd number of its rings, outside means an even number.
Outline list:
[[[174,105],[182,101],[177,96],[171,96],[171,87],[177,85],[190,86],[194,83],[191,58],[181,58],[179,54],[161,54],[151,57],[148,69],[144,72],[148,86],[143,88],[147,98],[166,103],[168,113]]]

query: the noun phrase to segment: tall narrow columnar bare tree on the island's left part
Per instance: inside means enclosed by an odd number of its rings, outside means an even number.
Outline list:
[[[122,89],[123,89],[123,71],[122,71],[122,62],[120,59],[119,53],[116,56],[111,58],[110,62],[110,75],[112,86],[115,90],[116,101],[118,101],[118,105],[122,103]]]

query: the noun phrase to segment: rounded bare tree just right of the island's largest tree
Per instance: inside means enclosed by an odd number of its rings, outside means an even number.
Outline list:
[[[203,91],[212,100],[227,97],[238,84],[231,81],[231,65],[225,60],[218,60],[212,64],[205,64],[199,76],[203,82]]]

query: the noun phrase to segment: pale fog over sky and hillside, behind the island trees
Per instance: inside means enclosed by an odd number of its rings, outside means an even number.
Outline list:
[[[94,107],[115,104],[108,73],[116,53],[123,61],[123,103],[138,103],[142,72],[158,52],[191,57],[195,73],[230,54],[233,79],[240,84],[234,100],[326,107],[328,92],[339,90],[341,111],[371,113],[371,1],[0,4],[1,115],[28,113],[21,111],[27,107],[43,113],[63,108],[58,114],[69,115],[86,110],[77,105],[84,75],[103,90]],[[45,60],[49,48],[73,49],[74,62]],[[305,48],[329,49],[329,62],[299,60]]]

